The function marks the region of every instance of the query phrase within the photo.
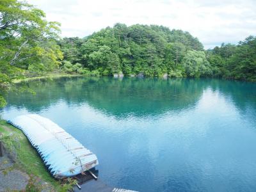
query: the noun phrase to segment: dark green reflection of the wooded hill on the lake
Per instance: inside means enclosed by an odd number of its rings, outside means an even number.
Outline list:
[[[54,81],[33,81],[29,88],[36,95],[11,93],[8,102],[17,108],[40,111],[58,100],[68,105],[88,103],[110,115],[157,115],[195,105],[205,83],[195,79],[63,78]],[[35,102],[36,101],[36,102]]]

